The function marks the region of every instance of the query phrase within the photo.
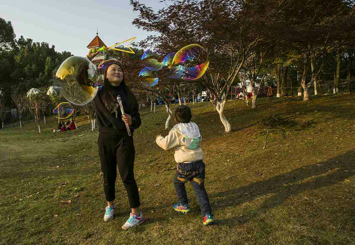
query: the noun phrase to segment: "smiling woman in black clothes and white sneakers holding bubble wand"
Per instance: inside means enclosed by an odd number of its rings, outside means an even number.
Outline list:
[[[89,51],[87,58],[92,60],[97,54]],[[83,74],[83,73],[82,73]],[[84,75],[86,77],[86,74]],[[83,78],[85,79],[85,78]],[[117,102],[121,97],[125,114]],[[104,221],[113,219],[115,212],[115,182],[117,166],[121,180],[126,188],[131,214],[122,229],[127,230],[144,222],[140,211],[140,198],[133,173],[135,147],[133,137],[128,136],[125,123],[130,126],[131,133],[141,125],[138,104],[132,91],[125,84],[125,74],[122,63],[110,60],[104,71],[104,85],[93,99],[96,118],[99,124],[98,148],[101,169],[104,179],[104,191],[107,201]]]

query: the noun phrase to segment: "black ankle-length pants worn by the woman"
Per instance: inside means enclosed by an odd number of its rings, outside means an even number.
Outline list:
[[[98,138],[101,169],[104,173],[104,191],[107,201],[115,200],[117,167],[126,188],[131,208],[141,205],[133,164],[135,148],[132,136],[100,133]]]

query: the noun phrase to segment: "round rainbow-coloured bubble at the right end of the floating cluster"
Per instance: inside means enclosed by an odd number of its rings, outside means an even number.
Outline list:
[[[172,66],[177,65],[183,67],[181,79],[196,80],[202,77],[208,68],[208,54],[201,45],[187,45],[175,54]]]

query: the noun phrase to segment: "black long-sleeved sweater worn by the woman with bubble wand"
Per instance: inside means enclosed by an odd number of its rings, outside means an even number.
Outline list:
[[[126,114],[132,117],[132,125],[130,126],[131,133],[134,132],[134,129],[141,126],[141,117],[138,112],[138,103],[136,97],[132,93],[126,94],[123,90],[123,84],[120,86],[114,87],[114,95],[117,97],[121,96],[122,106]],[[110,113],[103,103],[103,92],[104,87],[100,89],[93,99],[95,109],[96,109],[96,119],[99,124],[100,133],[109,133],[109,134],[118,134],[118,135],[128,135],[126,125],[122,121],[122,113],[120,107],[117,108],[117,118],[116,113]]]

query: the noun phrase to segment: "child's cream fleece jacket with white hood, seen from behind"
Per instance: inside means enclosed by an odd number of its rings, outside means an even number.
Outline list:
[[[185,132],[185,135],[182,134],[181,131]],[[203,151],[201,149],[201,145],[193,150],[187,149],[185,145],[185,137],[198,138],[198,136],[201,137],[198,126],[195,123],[178,123],[170,130],[169,135],[167,135],[165,138],[158,136],[155,142],[164,150],[169,150],[175,147],[174,157],[177,163],[195,162],[203,160]]]

